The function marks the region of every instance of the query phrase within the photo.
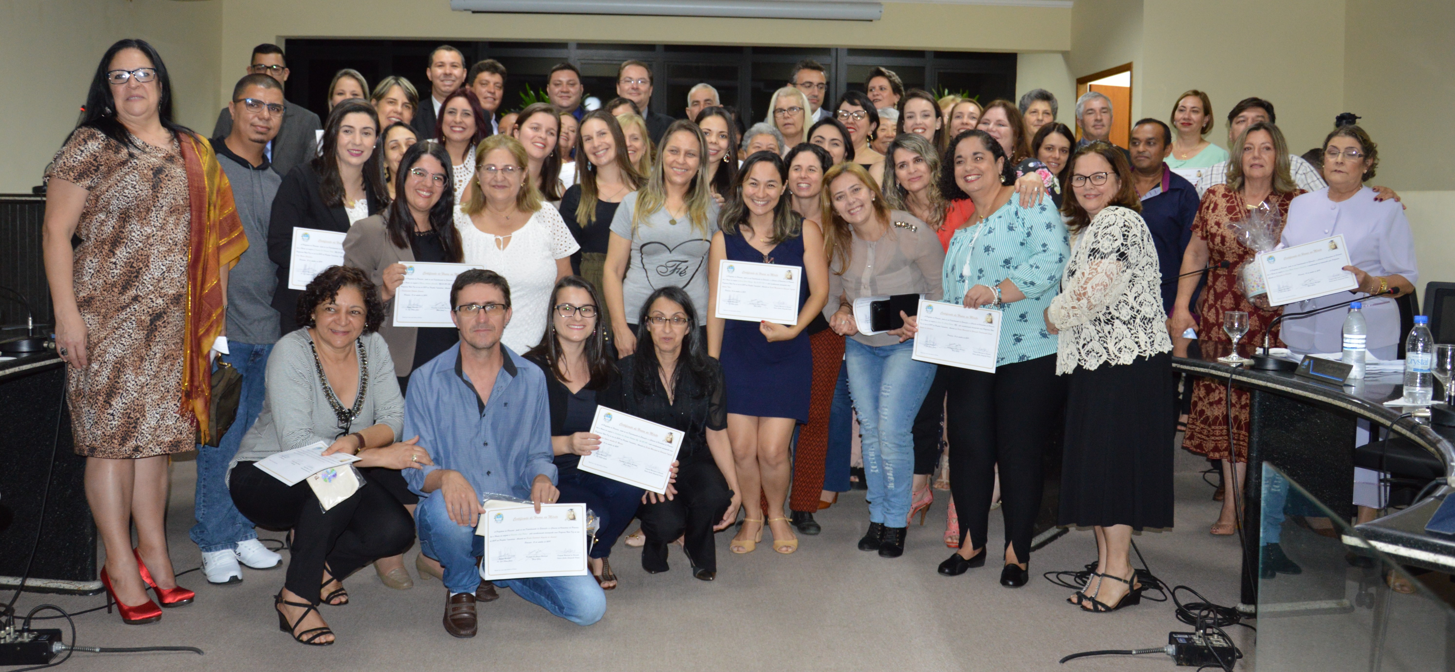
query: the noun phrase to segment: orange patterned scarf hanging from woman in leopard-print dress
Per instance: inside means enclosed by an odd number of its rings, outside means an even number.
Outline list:
[[[243,223],[233,205],[233,188],[207,140],[182,134],[186,163],[191,237],[186,257],[186,337],[182,349],[182,403],[178,413],[191,413],[207,435],[212,399],[212,367],[207,355],[223,333],[227,319],[221,269],[237,265],[247,249]]]

